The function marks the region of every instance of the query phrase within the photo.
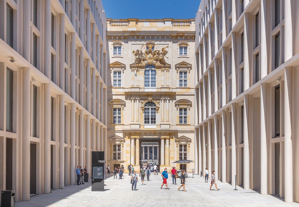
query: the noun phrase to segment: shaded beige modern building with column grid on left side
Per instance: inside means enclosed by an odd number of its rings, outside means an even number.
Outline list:
[[[0,4],[0,190],[29,200],[105,151],[106,15],[99,0]]]

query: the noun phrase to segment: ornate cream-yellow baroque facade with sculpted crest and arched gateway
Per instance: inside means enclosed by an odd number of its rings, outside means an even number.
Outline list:
[[[107,162],[193,160],[194,19],[107,19]],[[110,106],[110,107],[109,107]],[[151,152],[152,151],[152,152]],[[150,159],[151,158],[151,159]]]

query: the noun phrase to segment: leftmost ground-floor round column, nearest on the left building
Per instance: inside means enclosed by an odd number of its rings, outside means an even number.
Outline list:
[[[28,159],[30,157],[30,68],[23,68],[22,72],[22,201],[28,201],[30,200],[30,177],[28,177],[30,175],[30,167],[28,167],[30,166],[30,159]]]

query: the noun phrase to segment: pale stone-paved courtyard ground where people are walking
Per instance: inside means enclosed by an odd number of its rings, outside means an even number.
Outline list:
[[[150,181],[141,180],[137,183],[137,191],[131,191],[130,177],[125,174],[122,180],[113,179],[112,174],[106,178],[106,191],[91,192],[91,181],[85,185],[68,185],[65,189],[53,190],[51,194],[41,194],[30,198],[30,201],[16,202],[19,207],[76,207],[76,206],[298,206],[299,203],[285,203],[271,195],[260,195],[252,190],[244,190],[228,183],[217,182],[220,191],[209,191],[210,183],[196,175],[187,178],[187,192],[178,191],[178,185],[172,185],[168,179],[167,189],[160,189],[161,175],[151,175]],[[189,174],[190,175],[190,174]],[[138,177],[140,179],[140,177]],[[177,179],[177,183],[179,180]],[[165,185],[164,185],[164,188]],[[215,187],[213,187],[215,189]],[[182,188],[181,188],[182,190]]]

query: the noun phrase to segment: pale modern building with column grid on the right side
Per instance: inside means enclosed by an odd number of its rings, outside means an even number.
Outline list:
[[[298,9],[201,1],[195,21],[195,172],[286,202],[299,202]]]

